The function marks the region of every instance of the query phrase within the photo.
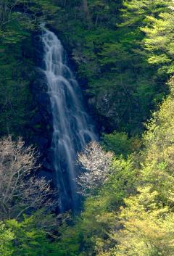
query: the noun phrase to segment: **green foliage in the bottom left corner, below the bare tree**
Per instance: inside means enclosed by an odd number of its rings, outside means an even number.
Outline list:
[[[38,215],[41,219],[37,219]],[[20,222],[0,223],[0,250],[2,256],[60,256],[55,215],[40,210]]]

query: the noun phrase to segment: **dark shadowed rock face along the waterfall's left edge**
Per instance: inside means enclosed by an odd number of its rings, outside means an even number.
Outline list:
[[[30,120],[30,128],[33,130],[33,138],[30,143],[38,148],[40,154],[41,170],[38,176],[45,177],[46,180],[54,181],[54,173],[51,168],[51,138],[53,131],[51,102],[47,94],[47,81],[41,67],[43,66],[43,44],[41,33],[33,34],[33,46],[35,49],[34,62],[36,65],[35,80],[30,85],[33,95],[34,115]]]

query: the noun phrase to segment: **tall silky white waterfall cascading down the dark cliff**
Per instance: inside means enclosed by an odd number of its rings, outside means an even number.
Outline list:
[[[59,190],[59,209],[77,210],[77,152],[89,141],[96,140],[96,135],[83,105],[80,86],[67,66],[61,42],[44,25],[42,29],[43,72],[48,83],[53,116],[51,152]]]

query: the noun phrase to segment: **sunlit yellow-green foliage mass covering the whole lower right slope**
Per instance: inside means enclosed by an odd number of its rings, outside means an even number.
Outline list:
[[[62,237],[71,234],[75,255],[173,255],[173,87],[172,79],[170,96],[147,125],[141,154],[115,159],[98,194],[86,199],[75,225],[62,231]],[[115,137],[116,145],[120,138],[128,144],[126,133],[114,133],[104,136],[109,148]]]

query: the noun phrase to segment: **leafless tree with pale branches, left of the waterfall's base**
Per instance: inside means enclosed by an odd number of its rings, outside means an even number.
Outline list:
[[[36,178],[37,157],[32,146],[9,136],[0,143],[0,218],[20,218],[40,207],[54,207],[53,191],[44,178]]]

